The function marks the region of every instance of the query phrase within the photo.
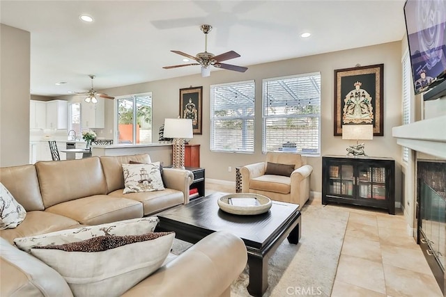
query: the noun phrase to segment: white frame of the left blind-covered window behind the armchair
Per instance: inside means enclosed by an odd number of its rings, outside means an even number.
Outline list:
[[[216,117],[215,116],[215,90],[219,87],[228,87],[228,86],[238,86],[242,84],[252,84],[253,90],[252,90],[252,113],[249,115],[238,115],[238,116],[229,116],[229,117]],[[254,146],[255,146],[255,93],[256,93],[256,84],[254,80],[249,81],[237,81],[232,83],[220,83],[215,85],[210,85],[210,138],[209,138],[209,147],[211,152],[236,152],[236,153],[246,153],[246,154],[253,154],[254,153]],[[246,94],[240,94],[245,95]],[[246,99],[245,99],[246,100]],[[221,136],[216,134],[215,131],[215,125],[217,120],[241,120],[245,122],[245,125],[247,122],[252,122],[252,137],[250,139],[248,138],[242,138],[242,145],[239,147],[229,147],[227,150],[223,150],[221,145],[217,145],[217,141],[224,141]],[[240,128],[240,131],[242,131],[243,128]],[[242,131],[243,133],[243,131]]]

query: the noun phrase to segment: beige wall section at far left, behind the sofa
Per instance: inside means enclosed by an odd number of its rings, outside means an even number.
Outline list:
[[[0,167],[29,163],[30,40],[1,24]]]

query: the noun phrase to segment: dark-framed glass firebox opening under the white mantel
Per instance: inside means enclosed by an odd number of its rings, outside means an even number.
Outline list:
[[[446,160],[417,159],[417,243],[445,294]]]

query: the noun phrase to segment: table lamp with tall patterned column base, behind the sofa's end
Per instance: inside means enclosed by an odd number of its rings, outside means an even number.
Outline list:
[[[194,137],[191,119],[164,119],[164,137],[174,138],[173,165],[174,168],[184,169],[184,140]]]

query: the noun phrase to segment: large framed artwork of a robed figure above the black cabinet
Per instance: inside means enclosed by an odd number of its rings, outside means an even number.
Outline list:
[[[342,125],[374,125],[384,135],[384,64],[334,70],[334,136]]]

